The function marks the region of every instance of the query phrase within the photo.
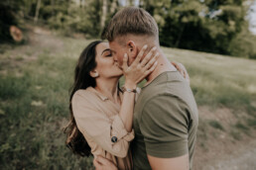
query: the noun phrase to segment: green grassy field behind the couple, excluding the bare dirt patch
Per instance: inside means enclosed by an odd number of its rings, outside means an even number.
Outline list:
[[[64,145],[69,117],[68,89],[80,51],[89,41],[33,34],[24,45],[0,46],[0,169],[90,169]],[[227,108],[237,118],[226,129],[235,138],[256,127],[256,60],[163,47],[171,60],[184,63],[199,107]],[[242,117],[240,114],[242,113]],[[239,139],[239,137],[237,137]]]

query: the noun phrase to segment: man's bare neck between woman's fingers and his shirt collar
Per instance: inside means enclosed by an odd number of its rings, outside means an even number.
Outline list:
[[[177,70],[175,66],[165,56],[164,52],[160,48],[158,48],[157,50],[159,52],[158,65],[155,70],[146,77],[147,83],[145,84],[145,86],[150,84],[161,73]]]

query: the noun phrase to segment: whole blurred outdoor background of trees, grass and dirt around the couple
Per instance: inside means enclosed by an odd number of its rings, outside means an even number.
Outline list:
[[[64,145],[68,89],[79,53],[124,6],[147,10],[167,57],[189,71],[193,168],[256,169],[253,0],[0,1],[0,169],[93,169]]]

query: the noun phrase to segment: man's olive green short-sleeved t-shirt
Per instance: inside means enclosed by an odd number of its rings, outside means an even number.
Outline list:
[[[187,153],[192,169],[197,125],[190,84],[178,71],[160,74],[142,88],[135,105],[135,139],[131,145],[134,169],[151,169],[147,154],[173,158]]]

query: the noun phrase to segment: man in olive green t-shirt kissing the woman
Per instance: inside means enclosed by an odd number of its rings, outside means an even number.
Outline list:
[[[102,37],[108,40],[119,65],[125,53],[131,64],[144,44],[156,46],[159,52],[158,65],[146,78],[134,109],[134,169],[192,169],[197,107],[189,83],[160,48],[154,18],[143,9],[124,8],[111,19]],[[98,162],[96,159],[94,164]]]

